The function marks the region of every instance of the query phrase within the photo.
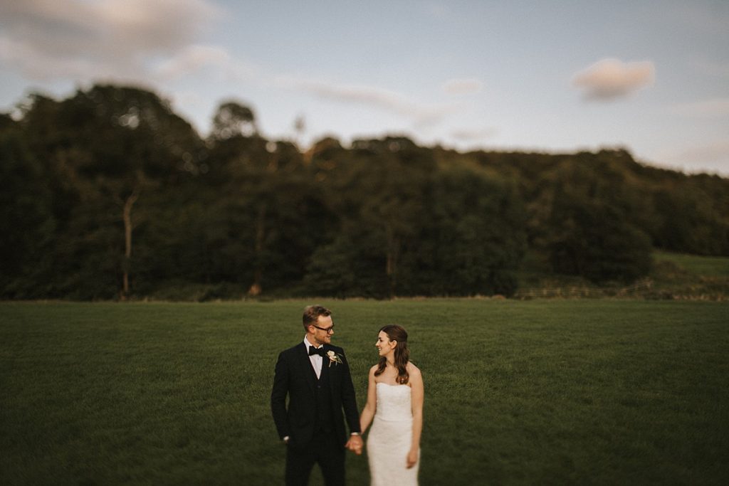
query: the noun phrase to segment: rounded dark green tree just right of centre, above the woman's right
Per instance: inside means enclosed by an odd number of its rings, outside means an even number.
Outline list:
[[[430,223],[409,252],[416,259],[405,293],[513,294],[526,249],[526,213],[515,190],[457,166],[439,171],[435,181]]]

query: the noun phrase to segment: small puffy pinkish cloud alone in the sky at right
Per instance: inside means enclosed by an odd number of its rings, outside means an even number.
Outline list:
[[[584,90],[585,99],[611,101],[650,86],[654,80],[655,68],[650,61],[603,59],[575,74],[572,85]]]

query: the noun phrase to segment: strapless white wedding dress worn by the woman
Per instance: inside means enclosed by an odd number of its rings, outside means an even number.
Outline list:
[[[372,486],[412,486],[418,484],[418,466],[408,469],[413,441],[413,410],[408,385],[378,383],[377,411],[367,437]]]

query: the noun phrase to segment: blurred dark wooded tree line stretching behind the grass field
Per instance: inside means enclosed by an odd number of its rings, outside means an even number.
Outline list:
[[[652,248],[729,255],[729,181],[623,149],[460,153],[405,136],[300,150],[221,103],[200,136],[157,94],[95,85],[0,114],[6,299],[513,294],[633,281]],[[198,296],[199,297],[199,296]]]

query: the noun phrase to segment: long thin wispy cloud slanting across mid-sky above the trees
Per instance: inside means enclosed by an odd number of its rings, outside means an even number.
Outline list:
[[[320,98],[356,103],[413,119],[416,125],[434,125],[459,109],[455,103],[426,104],[408,100],[404,95],[376,87],[337,85],[330,82],[279,77],[278,84],[302,90]]]

